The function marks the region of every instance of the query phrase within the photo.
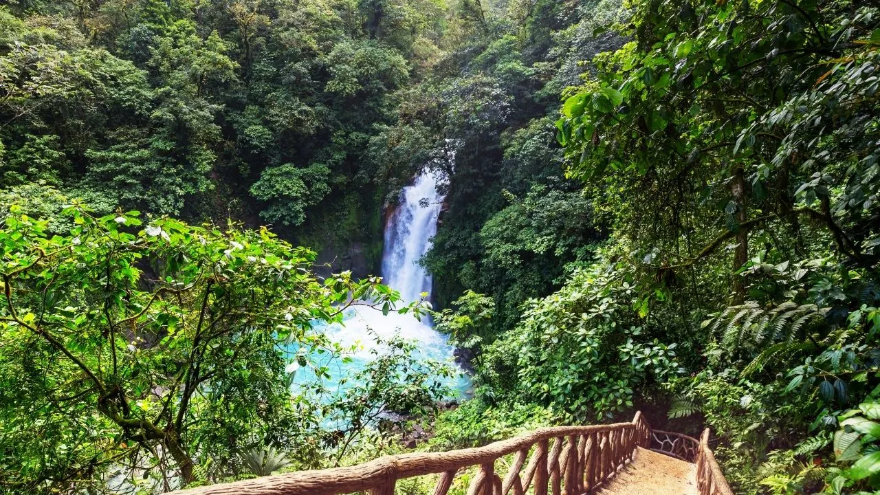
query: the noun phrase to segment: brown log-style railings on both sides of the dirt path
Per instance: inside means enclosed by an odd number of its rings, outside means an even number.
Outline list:
[[[399,480],[433,474],[439,475],[434,495],[447,495],[459,469],[478,467],[467,495],[524,495],[530,489],[533,495],[583,495],[597,491],[633,461],[637,447],[649,448],[651,434],[642,413],[637,412],[628,423],[541,428],[486,447],[385,456],[349,468],[298,471],[177,493],[339,495],[369,491],[370,495],[393,495]],[[700,494],[732,495],[708,450],[708,431],[703,438],[706,441],[701,439],[693,454]],[[508,455],[510,462],[497,462]],[[497,472],[496,464],[508,468]]]

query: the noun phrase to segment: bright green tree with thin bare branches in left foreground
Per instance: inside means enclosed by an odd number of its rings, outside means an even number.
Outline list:
[[[167,489],[194,480],[196,458],[222,459],[253,434],[283,442],[308,413],[291,401],[282,348],[338,353],[313,321],[398,299],[376,279],[317,280],[314,254],[265,229],[64,215],[76,225],[67,235],[48,237],[17,207],[0,229],[12,491],[84,489],[126,465],[126,477],[177,473],[157,480]]]

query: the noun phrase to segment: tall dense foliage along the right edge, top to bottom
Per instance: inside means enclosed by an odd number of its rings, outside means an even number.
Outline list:
[[[568,175],[612,213],[634,307],[665,327],[649,335],[697,372],[671,380],[671,415],[699,410],[730,442],[738,491],[821,490],[834,471],[811,461],[834,461],[835,416],[877,385],[876,16],[634,4],[631,41],[557,124]],[[876,488],[864,466],[827,489]]]

